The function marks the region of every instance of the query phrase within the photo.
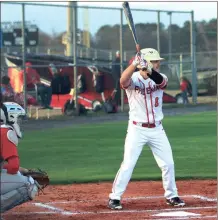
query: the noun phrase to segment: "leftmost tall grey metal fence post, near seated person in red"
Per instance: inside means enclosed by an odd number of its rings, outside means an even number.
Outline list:
[[[25,36],[25,4],[22,3],[22,55],[23,55],[23,95],[24,95],[24,109],[27,112],[27,81],[26,81],[26,36]]]

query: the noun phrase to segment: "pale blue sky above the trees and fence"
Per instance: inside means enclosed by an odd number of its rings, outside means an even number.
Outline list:
[[[33,2],[36,3],[36,2]],[[47,2],[49,3],[49,2]],[[54,2],[49,4],[66,5],[65,3]],[[217,17],[217,2],[130,2],[130,7],[141,9],[155,10],[179,10],[179,11],[194,11],[196,21],[210,20]],[[121,8],[122,2],[78,2],[78,5],[99,6],[99,7],[117,7]],[[25,19],[35,23],[45,32],[51,33],[66,31],[67,13],[64,7],[49,7],[49,6],[27,6]],[[135,23],[156,22],[157,13],[153,12],[136,12],[133,11],[133,19]],[[86,14],[86,16],[85,16]],[[21,21],[22,13],[20,5],[11,5],[3,3],[1,7],[1,22],[5,21]],[[84,9],[78,9],[78,27],[83,29],[85,18],[88,20],[89,31],[95,34],[96,31],[103,25],[115,25],[120,22],[119,10],[106,9],[89,9],[88,12]],[[190,20],[190,14],[173,13],[172,23],[183,25],[187,20]],[[164,25],[169,25],[169,16],[167,13],[161,13],[161,22]],[[86,22],[87,23],[87,22]],[[124,19],[124,24],[126,23]]]

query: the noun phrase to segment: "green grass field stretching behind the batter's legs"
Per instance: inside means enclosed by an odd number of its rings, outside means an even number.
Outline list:
[[[165,117],[177,179],[216,178],[216,112]],[[52,183],[113,180],[122,162],[127,122],[25,132],[21,165],[47,170]],[[161,179],[145,146],[135,180]]]

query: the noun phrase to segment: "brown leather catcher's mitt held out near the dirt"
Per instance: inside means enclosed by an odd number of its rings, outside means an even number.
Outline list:
[[[28,169],[23,173],[24,176],[31,176],[40,185],[40,189],[43,190],[49,185],[50,180],[48,174],[41,169]]]

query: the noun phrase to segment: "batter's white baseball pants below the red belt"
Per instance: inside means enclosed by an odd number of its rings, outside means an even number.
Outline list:
[[[154,158],[162,171],[164,197],[170,199],[178,196],[171,145],[162,124],[157,123],[155,128],[144,128],[129,121],[124,146],[124,158],[115,177],[112,193],[109,195],[110,199],[121,199],[144,145],[148,145],[151,148]]]

